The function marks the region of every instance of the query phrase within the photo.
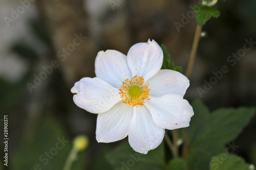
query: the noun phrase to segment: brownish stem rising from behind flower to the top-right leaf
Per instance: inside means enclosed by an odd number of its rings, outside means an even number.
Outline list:
[[[193,45],[192,45],[191,52],[190,52],[189,63],[188,63],[187,70],[186,70],[187,78],[190,78],[191,72],[194,67],[196,53],[197,53],[197,47],[198,47],[199,38],[200,38],[200,34],[201,34],[201,29],[202,29],[202,26],[197,25]]]

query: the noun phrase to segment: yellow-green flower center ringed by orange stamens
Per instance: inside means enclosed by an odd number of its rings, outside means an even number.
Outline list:
[[[138,107],[138,105],[142,106],[145,103],[145,99],[150,100],[148,99],[148,92],[150,91],[148,83],[143,84],[143,77],[134,76],[131,80],[124,80],[122,88],[119,89],[123,103]]]

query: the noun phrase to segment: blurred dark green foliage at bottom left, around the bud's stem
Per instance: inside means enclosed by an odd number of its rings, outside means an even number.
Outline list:
[[[12,155],[12,169],[62,169],[72,148],[72,141],[62,129],[52,119],[42,120],[34,134],[20,143]],[[81,152],[72,169],[82,169],[85,163],[86,152]]]

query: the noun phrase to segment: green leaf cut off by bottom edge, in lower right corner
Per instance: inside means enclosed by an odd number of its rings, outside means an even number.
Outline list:
[[[250,169],[249,164],[237,156],[237,155],[227,155],[220,154],[215,156],[210,161],[210,170],[246,170]]]

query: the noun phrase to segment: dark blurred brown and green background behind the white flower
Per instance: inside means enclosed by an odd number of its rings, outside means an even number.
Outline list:
[[[74,169],[111,169],[104,153],[118,142],[97,143],[97,115],[78,108],[71,87],[83,77],[94,77],[94,60],[101,50],[127,54],[129,48],[149,38],[166,45],[175,65],[185,74],[196,28],[195,18],[179,30],[183,15],[198,1],[127,0],[21,0],[0,2],[0,123],[9,120],[9,166],[0,169],[61,169],[71,142],[43,164],[40,155],[64,137],[90,139],[79,153]],[[256,106],[256,44],[233,66],[227,61],[246,43],[256,41],[256,1],[217,3],[219,18],[203,26],[196,63],[185,98],[200,99],[210,110],[219,107]],[[229,71],[215,85],[204,88],[226,65]],[[45,72],[45,73],[43,73]],[[256,117],[234,141],[235,154],[256,164]],[[1,132],[1,136],[2,136]],[[126,139],[125,139],[126,140]],[[1,153],[4,145],[1,143]],[[0,158],[1,162],[2,156]]]

